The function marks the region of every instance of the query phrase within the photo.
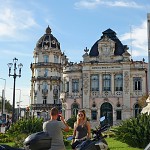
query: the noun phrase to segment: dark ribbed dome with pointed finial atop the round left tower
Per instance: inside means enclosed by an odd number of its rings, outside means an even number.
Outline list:
[[[58,48],[60,49],[60,43],[58,40],[52,35],[51,28],[48,26],[45,30],[45,34],[38,40],[36,47],[38,48]]]

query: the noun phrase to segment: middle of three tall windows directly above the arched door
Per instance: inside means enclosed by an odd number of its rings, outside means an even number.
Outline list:
[[[111,75],[103,75],[103,91],[111,91]]]

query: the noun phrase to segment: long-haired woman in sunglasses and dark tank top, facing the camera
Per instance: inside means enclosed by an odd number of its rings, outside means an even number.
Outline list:
[[[77,121],[74,123],[72,149],[86,139],[91,138],[91,126],[87,121],[85,110],[79,110],[77,114]]]

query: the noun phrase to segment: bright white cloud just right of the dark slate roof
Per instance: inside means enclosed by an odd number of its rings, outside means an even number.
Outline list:
[[[123,34],[120,40],[130,43],[133,56],[147,56],[147,21],[140,26],[131,26],[131,32]]]

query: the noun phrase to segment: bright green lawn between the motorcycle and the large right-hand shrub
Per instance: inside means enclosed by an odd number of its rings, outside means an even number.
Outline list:
[[[113,138],[106,138],[106,141],[108,142],[110,150],[143,150],[139,148],[129,147],[129,145],[122,143],[120,141],[116,141]],[[71,147],[67,146],[66,149],[71,150]]]

